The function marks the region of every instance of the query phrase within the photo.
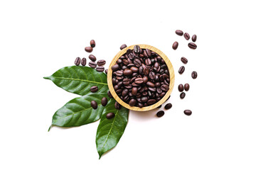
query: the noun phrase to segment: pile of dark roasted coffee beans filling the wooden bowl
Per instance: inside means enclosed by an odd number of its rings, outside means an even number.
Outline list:
[[[124,49],[127,45],[122,45]],[[149,49],[135,45],[112,66],[112,84],[119,98],[129,106],[151,106],[169,91],[169,69],[164,60]]]

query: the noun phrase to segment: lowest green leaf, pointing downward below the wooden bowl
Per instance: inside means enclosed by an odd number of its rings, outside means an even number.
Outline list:
[[[117,110],[114,108],[114,103],[114,98],[111,98],[102,113],[97,128],[96,145],[100,157],[117,145],[127,125],[129,110],[124,107]],[[114,118],[107,119],[107,113],[111,112],[115,114]]]

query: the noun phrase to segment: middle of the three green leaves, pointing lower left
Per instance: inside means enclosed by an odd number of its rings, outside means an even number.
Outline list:
[[[53,115],[52,125],[62,127],[80,126],[88,123],[93,123],[99,120],[105,106],[102,106],[101,100],[103,97],[110,98],[105,94],[88,94],[74,98],[66,103],[62,108]],[[93,109],[90,102],[96,101],[97,109]],[[109,106],[110,103],[107,104]]]

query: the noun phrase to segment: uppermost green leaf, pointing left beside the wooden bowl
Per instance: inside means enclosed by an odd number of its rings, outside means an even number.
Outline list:
[[[108,91],[107,75],[90,67],[63,67],[50,77],[43,78],[50,79],[60,88],[81,96],[88,94],[92,86],[98,87],[97,93],[107,93]]]

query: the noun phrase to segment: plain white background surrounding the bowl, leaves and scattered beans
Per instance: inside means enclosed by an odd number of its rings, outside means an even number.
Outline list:
[[[253,2],[1,1],[0,169],[256,169]],[[198,35],[198,49],[176,29]],[[107,67],[123,43],[148,44],[176,73],[173,108],[162,118],[131,111],[117,147],[100,160],[99,121],[47,132],[53,113],[78,95],[43,79],[87,57],[92,39]],[[188,64],[179,75],[181,57]],[[177,86],[187,82],[181,100]]]

